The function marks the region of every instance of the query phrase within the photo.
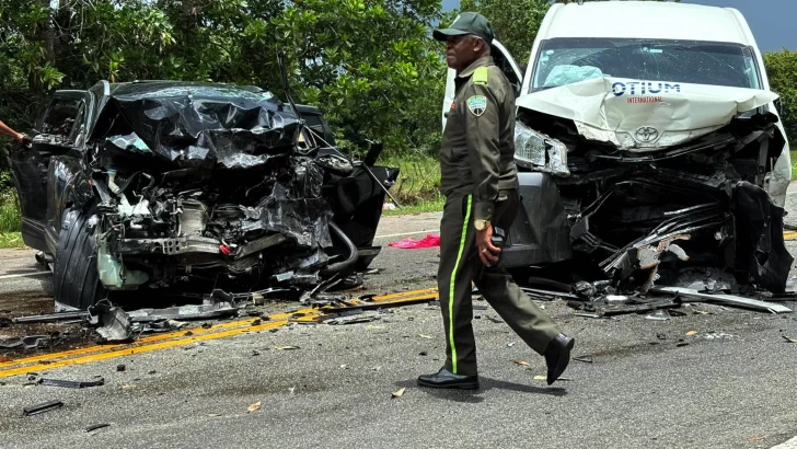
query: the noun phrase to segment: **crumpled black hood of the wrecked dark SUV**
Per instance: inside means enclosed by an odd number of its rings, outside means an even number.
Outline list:
[[[95,124],[92,138],[103,133],[112,136],[106,147],[186,168],[262,165],[290,153],[301,127],[270,92],[224,84],[111,84],[99,108],[105,124]]]

